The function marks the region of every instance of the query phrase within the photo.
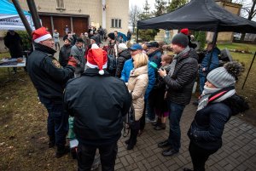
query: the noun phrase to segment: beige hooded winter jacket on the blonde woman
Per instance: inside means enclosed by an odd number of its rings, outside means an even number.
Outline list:
[[[148,65],[131,70],[127,86],[132,92],[135,120],[138,121],[143,116],[144,94],[148,87]]]

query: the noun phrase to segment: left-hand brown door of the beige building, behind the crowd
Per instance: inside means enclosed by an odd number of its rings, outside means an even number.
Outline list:
[[[64,37],[66,35],[65,26],[67,25],[69,31],[71,31],[71,22],[70,17],[62,17],[62,16],[53,16],[53,23],[55,29],[60,33],[60,37]]]

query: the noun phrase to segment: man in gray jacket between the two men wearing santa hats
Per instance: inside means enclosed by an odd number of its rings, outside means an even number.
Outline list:
[[[79,77],[84,72],[85,59],[83,43],[84,40],[82,38],[77,38],[75,45],[71,48],[70,56],[73,56],[77,60],[74,77]]]

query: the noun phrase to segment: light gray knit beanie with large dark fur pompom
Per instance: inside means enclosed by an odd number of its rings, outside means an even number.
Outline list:
[[[243,69],[243,66],[236,61],[228,62],[223,67],[210,71],[207,80],[217,88],[235,86],[236,80]]]

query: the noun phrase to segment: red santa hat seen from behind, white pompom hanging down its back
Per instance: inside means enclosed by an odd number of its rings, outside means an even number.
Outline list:
[[[107,52],[102,50],[102,48],[99,48],[96,43],[93,43],[87,54],[86,66],[89,66],[90,68],[99,68],[99,74],[103,75],[103,69],[107,68],[107,65]]]

